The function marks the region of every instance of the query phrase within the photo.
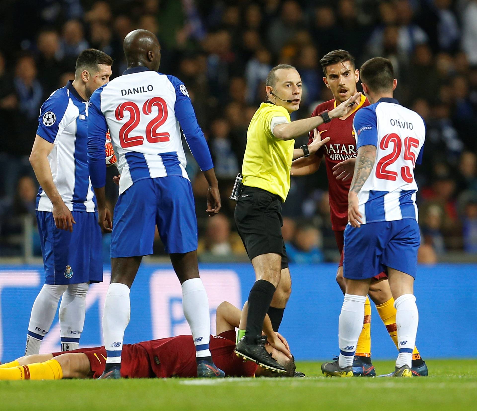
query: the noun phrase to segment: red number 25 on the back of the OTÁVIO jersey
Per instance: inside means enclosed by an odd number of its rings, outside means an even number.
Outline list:
[[[403,141],[401,137],[396,133],[389,133],[384,136],[379,144],[381,150],[386,150],[392,145],[391,153],[385,155],[379,160],[376,166],[376,177],[383,180],[396,181],[398,173],[393,170],[388,170],[401,155],[403,150]],[[404,160],[411,161],[413,168],[416,162],[416,154],[412,151],[413,148],[419,147],[419,140],[415,137],[406,137],[404,139]],[[411,168],[407,165],[401,167],[401,177],[406,183],[411,184],[413,182],[413,174]]]

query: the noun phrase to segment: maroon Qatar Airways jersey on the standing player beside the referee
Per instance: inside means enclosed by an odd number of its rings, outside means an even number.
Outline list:
[[[324,144],[316,155],[324,156],[326,163],[326,173],[328,174],[328,191],[330,194],[330,209],[332,229],[336,231],[344,230],[348,223],[348,191],[350,190],[351,179],[346,181],[336,180],[333,175],[333,167],[344,160],[356,157],[356,139],[353,132],[353,119],[357,110],[369,106],[368,99],[361,96],[361,102],[354,111],[344,120],[332,119],[329,123],[318,126],[321,139],[330,137],[330,141]],[[311,117],[315,117],[325,110],[335,108],[335,100],[326,101],[317,106]],[[309,143],[313,136],[310,131]]]

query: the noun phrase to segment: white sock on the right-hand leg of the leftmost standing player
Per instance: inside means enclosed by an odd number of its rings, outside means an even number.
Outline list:
[[[89,283],[70,284],[60,303],[60,338],[62,351],[78,348],[86,315],[86,293]]]

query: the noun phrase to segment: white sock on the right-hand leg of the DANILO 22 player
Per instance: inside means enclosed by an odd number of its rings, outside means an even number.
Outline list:
[[[210,357],[210,311],[207,292],[200,278],[182,283],[182,309],[192,332],[196,357]]]

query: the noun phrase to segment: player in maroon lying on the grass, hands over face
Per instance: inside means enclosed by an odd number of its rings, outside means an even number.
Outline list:
[[[214,363],[228,377],[278,376],[270,370],[258,367],[253,362],[243,362],[234,353],[235,327],[246,328],[246,305],[244,305],[243,315],[237,307],[226,301],[217,307],[217,335],[210,336],[210,351]],[[273,332],[268,316],[265,317],[263,331],[269,341],[265,347],[270,356],[287,370],[285,376],[293,377],[295,361],[290,354],[288,343],[280,334]],[[125,344],[122,353],[121,377],[197,377],[195,352],[190,335]],[[104,346],[20,357],[0,365],[0,380],[98,378],[104,372],[105,358]]]

